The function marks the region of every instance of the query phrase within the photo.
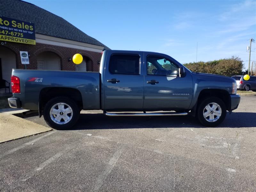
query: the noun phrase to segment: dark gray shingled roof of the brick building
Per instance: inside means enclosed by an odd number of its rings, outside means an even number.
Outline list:
[[[34,23],[38,34],[100,45],[109,49],[63,18],[25,1],[0,0],[0,15]]]

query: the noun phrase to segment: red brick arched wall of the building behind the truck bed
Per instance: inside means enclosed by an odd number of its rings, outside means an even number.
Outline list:
[[[0,45],[11,49],[16,55],[16,67],[23,69],[24,65],[21,64],[20,60],[20,51],[27,51],[30,54],[28,69],[37,69],[37,60],[36,57],[38,54],[51,51],[56,53],[60,57],[60,69],[61,70],[71,70],[74,71],[75,64],[72,61],[72,57],[76,53],[80,53],[86,59],[87,71],[99,71],[98,61],[101,59],[101,53],[84,51],[79,49],[72,49],[67,47],[60,47],[55,45],[47,45],[36,43],[36,45],[29,44],[20,44],[13,42],[6,42],[4,45]],[[71,58],[71,61],[68,62],[68,58]]]

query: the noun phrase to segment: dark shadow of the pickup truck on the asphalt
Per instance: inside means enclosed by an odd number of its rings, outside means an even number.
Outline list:
[[[256,127],[256,113],[229,114],[217,128]],[[207,128],[193,116],[109,117],[103,114],[80,114],[71,130],[133,129],[133,128]]]

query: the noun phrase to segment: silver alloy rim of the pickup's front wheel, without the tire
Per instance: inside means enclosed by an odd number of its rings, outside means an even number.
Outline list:
[[[215,122],[221,116],[221,107],[218,103],[209,103],[204,107],[204,119],[208,122]]]

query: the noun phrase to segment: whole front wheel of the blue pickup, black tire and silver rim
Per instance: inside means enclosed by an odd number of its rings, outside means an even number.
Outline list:
[[[196,111],[199,122],[207,127],[219,125],[225,119],[226,114],[226,105],[218,97],[205,98],[200,102]]]

